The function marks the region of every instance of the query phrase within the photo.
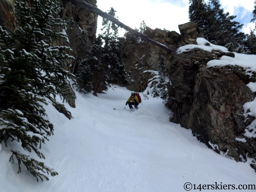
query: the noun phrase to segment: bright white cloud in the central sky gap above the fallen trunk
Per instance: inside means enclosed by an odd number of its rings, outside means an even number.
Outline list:
[[[104,12],[110,7],[116,10],[119,21],[131,28],[140,27],[140,19],[145,20],[148,27],[165,28],[180,33],[178,25],[189,22],[188,18],[188,0],[183,0],[185,7],[179,7],[168,3],[168,1],[149,1],[149,0],[97,0],[97,6]],[[183,5],[184,5],[183,4]],[[98,17],[97,34],[101,31],[102,18]],[[119,32],[120,36],[124,30]]]

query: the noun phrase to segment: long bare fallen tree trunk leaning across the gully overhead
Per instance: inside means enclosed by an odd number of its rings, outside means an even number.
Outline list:
[[[136,34],[136,35],[142,37],[147,42],[149,42],[151,44],[154,44],[154,45],[160,47],[161,49],[167,50],[169,52],[175,52],[174,49],[171,49],[171,48],[165,46],[164,44],[159,43],[156,40],[150,39],[147,35],[145,35],[143,33],[140,33],[139,31],[137,31],[137,30],[135,30],[133,28],[130,28],[127,25],[124,25],[124,23],[120,22],[115,17],[109,15],[106,12],[101,11],[99,8],[93,6],[93,5],[89,4],[89,3],[84,2],[83,0],[61,0],[61,2],[63,3],[64,6],[66,5],[67,2],[70,2],[72,4],[76,4],[77,6],[83,7],[84,9],[86,9],[88,11],[94,12],[94,13],[100,15],[101,17],[103,17],[103,18],[105,18],[107,20],[112,21],[117,26],[119,26],[121,28],[124,28],[126,31],[129,31],[130,33],[133,33],[133,34]]]

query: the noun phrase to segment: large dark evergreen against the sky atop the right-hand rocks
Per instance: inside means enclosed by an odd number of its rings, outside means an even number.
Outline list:
[[[190,0],[189,19],[197,22],[199,37],[213,44],[225,46],[233,43],[235,48],[243,45],[245,34],[240,32],[243,24],[234,21],[236,16],[224,13],[219,0]]]

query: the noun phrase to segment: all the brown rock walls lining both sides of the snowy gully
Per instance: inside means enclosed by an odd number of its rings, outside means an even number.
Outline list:
[[[96,0],[89,3],[96,5]],[[12,4],[13,1],[0,0],[0,24],[14,30]],[[71,55],[76,60],[72,66],[66,68],[72,72],[89,53],[86,43],[91,44],[95,38],[97,15],[68,3],[60,17],[68,24],[65,31],[69,41],[59,41],[57,44],[67,45],[73,49]],[[149,27],[144,33],[172,49],[186,44],[196,44],[195,23],[179,25],[179,28],[181,35],[175,31],[158,28],[153,30]],[[171,81],[168,84],[167,103],[173,112],[170,121],[191,129],[198,140],[217,153],[236,161],[250,160],[252,168],[256,170],[256,138],[245,137],[247,142],[236,139],[244,138],[246,126],[255,119],[249,116],[244,121],[243,105],[255,97],[246,84],[256,80],[249,78],[244,69],[237,66],[206,68],[209,60],[220,59],[224,54],[234,57],[233,53],[218,50],[207,52],[200,49],[180,54],[169,53],[129,33],[125,34],[122,41],[127,79],[131,83],[128,89],[136,92],[146,89],[148,80],[155,76],[150,70],[157,70],[157,57],[161,51]],[[71,100],[69,104],[75,107],[74,101]]]

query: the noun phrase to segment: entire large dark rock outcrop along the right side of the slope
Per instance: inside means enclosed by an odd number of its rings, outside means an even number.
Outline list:
[[[249,121],[244,122],[243,105],[255,97],[246,86],[252,79],[238,66],[206,67],[209,60],[223,54],[200,49],[172,54],[167,66],[170,121],[191,129],[218,153],[236,161],[255,160],[256,139],[243,142]]]

